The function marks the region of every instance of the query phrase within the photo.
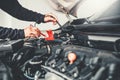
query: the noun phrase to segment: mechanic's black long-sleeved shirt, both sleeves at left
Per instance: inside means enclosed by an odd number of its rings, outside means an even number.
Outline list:
[[[37,23],[44,22],[44,15],[33,12],[22,7],[18,0],[1,0],[0,8],[10,14],[11,16],[25,21],[35,21]],[[24,31],[11,28],[0,27],[0,39],[10,38],[19,39],[24,38]]]

